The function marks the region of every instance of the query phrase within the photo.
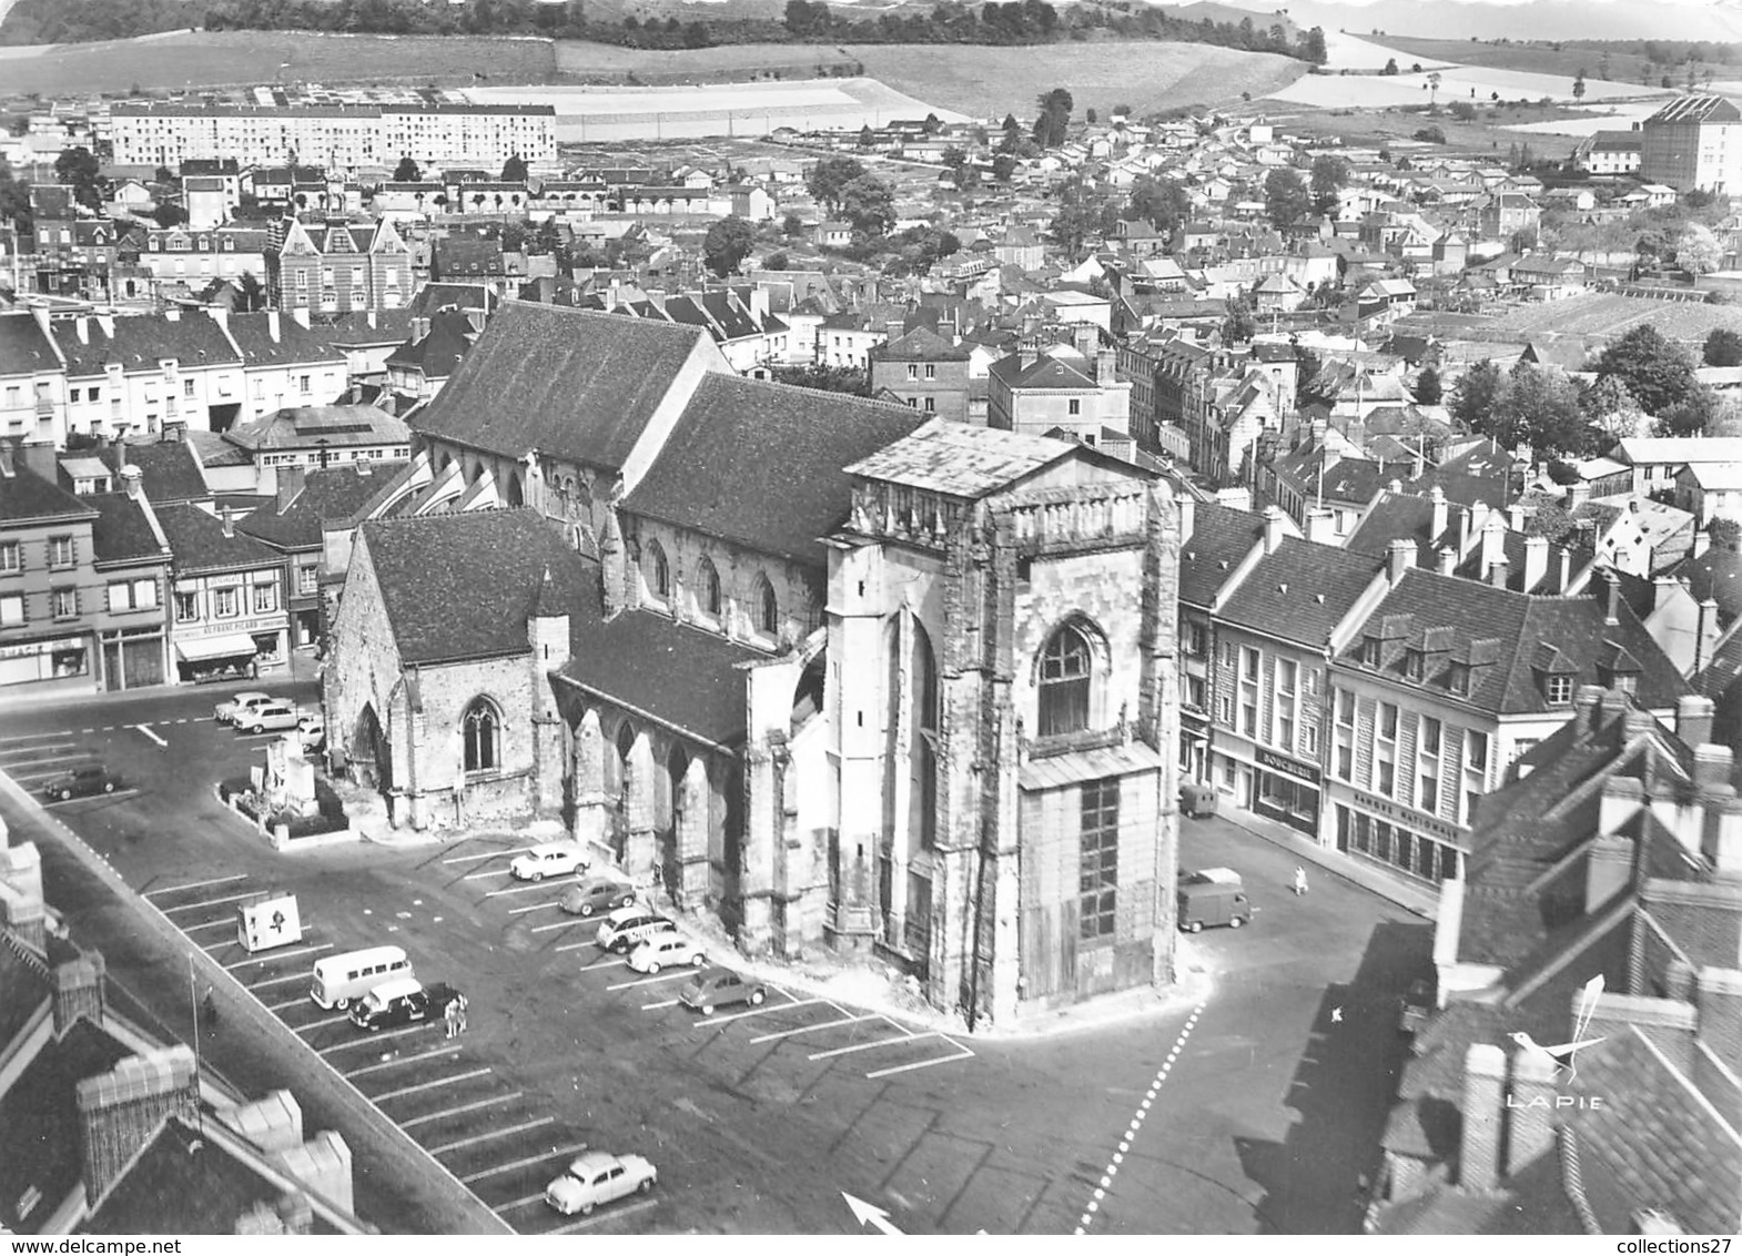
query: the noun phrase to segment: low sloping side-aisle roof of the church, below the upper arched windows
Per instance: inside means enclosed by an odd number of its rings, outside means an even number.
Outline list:
[[[665,615],[624,611],[578,620],[563,676],[716,746],[744,740],[747,678],[766,655]],[[559,702],[564,688],[557,686]]]

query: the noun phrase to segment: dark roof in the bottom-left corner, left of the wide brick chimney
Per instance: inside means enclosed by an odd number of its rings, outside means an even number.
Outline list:
[[[0,1226],[38,1233],[82,1174],[77,1087],[106,1073],[132,1050],[80,1017],[66,1037],[51,1040],[12,1087],[0,1096]],[[42,1202],[19,1216],[31,1192]]]

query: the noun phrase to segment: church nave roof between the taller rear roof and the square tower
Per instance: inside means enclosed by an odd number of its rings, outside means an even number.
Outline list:
[[[909,436],[908,406],[707,375],[625,509],[763,554],[826,563],[852,509],[845,467]]]

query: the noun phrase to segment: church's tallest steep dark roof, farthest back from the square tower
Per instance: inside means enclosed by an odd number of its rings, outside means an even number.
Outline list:
[[[514,458],[620,470],[678,369],[695,328],[505,301],[413,427]]]

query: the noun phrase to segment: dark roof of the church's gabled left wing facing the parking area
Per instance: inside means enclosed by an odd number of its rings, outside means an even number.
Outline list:
[[[535,510],[373,519],[362,542],[406,665],[528,653],[528,611],[545,570],[570,608],[577,652],[601,613],[598,564]]]

